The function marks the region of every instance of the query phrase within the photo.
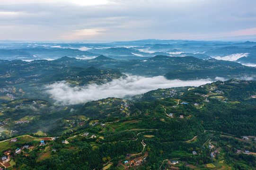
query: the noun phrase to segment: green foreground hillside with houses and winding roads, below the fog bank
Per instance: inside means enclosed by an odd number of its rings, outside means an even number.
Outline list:
[[[1,156],[20,170],[253,170],[255,99],[256,81],[230,79],[158,89],[139,102],[106,98],[56,107],[39,99],[12,101],[1,104],[0,118],[7,128],[2,134],[12,129],[17,141],[2,141]],[[18,136],[25,129],[30,136]],[[17,148],[23,149],[16,154]]]

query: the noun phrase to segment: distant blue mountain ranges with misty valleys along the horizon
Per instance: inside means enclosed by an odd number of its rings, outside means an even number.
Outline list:
[[[139,40],[104,43],[6,42],[0,44],[0,59],[59,59],[68,56],[93,59],[104,55],[112,59],[147,59],[156,55],[193,56],[256,64],[256,42],[187,40]]]

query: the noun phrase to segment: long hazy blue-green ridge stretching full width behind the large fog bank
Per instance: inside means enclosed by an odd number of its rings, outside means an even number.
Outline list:
[[[69,72],[69,67],[96,67],[99,69],[117,69],[123,73],[140,76],[163,76],[168,79],[202,79],[224,77],[240,78],[256,77],[256,68],[243,66],[232,61],[223,61],[216,59],[197,59],[194,57],[169,57],[158,55],[149,59],[132,59],[132,60],[117,60],[105,57],[103,55],[95,59],[75,59],[62,57],[52,61],[34,60],[25,62],[21,60],[0,60],[0,74],[2,76],[11,76],[10,70],[19,71],[19,78],[24,78],[30,72],[38,72],[38,74],[48,75],[53,72],[65,74]],[[62,69],[63,71],[60,72]],[[67,71],[66,71],[67,70]],[[41,79],[41,78],[40,78]],[[8,81],[8,80],[7,80]]]

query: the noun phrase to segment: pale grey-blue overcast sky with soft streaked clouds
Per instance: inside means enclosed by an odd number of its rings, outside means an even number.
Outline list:
[[[256,0],[0,0],[0,40],[256,39]]]

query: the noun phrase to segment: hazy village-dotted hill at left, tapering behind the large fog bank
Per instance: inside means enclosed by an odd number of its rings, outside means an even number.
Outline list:
[[[24,84],[43,85],[65,80],[75,85],[85,85],[89,82],[102,84],[106,81],[124,76],[116,69],[100,69],[93,66],[68,66],[67,62],[77,59],[63,57],[54,61],[34,60],[0,60],[0,83],[2,86],[16,85],[22,88]]]

